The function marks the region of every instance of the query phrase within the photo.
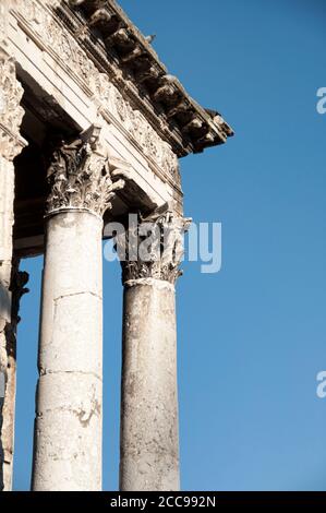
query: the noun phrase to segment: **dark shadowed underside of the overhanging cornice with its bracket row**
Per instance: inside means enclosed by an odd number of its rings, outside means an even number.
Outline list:
[[[85,39],[96,28],[106,46],[107,59],[112,60],[111,56],[114,55],[119,67],[123,67],[130,82],[134,83],[138,96],[146,98],[154,107],[153,110],[160,114],[161,123],[167,128],[166,133],[170,132],[170,138],[172,132],[174,138],[179,134],[181,153],[178,153],[177,141],[174,142],[179,156],[225,143],[233,134],[221,116],[217,112],[212,116],[209,110],[203,109],[189,96],[178,79],[168,73],[154,51],[150,38],[144,37],[135,28],[114,0],[100,5],[97,1],[68,0],[65,3],[84,15],[85,25],[76,28],[76,34]],[[59,9],[69,15],[63,5]],[[94,56],[96,51],[96,47],[93,47]]]

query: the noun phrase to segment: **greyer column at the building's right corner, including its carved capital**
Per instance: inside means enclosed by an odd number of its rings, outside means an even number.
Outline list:
[[[134,230],[126,261],[122,254],[122,491],[180,489],[174,283],[188,224],[171,213],[150,216],[137,230],[137,260],[130,260]],[[154,235],[149,246],[147,229]]]

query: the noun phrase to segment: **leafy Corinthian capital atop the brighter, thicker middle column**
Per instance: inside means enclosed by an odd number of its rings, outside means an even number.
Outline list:
[[[74,141],[60,141],[48,168],[50,193],[47,214],[67,208],[86,208],[102,214],[112,207],[123,189],[128,171],[110,165],[100,127],[93,126]]]

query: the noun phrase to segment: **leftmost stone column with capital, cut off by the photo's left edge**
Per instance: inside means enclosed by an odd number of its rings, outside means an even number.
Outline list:
[[[12,355],[11,274],[12,227],[14,222],[14,165],[26,142],[20,135],[24,110],[23,88],[16,80],[15,63],[3,41],[7,5],[0,5],[0,372],[5,381],[0,397],[0,490],[10,490],[13,462],[13,416],[15,363]]]

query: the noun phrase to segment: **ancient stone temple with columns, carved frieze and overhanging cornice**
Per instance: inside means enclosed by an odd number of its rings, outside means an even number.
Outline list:
[[[174,285],[189,224],[179,159],[232,130],[116,1],[0,10],[0,488],[12,486],[19,265],[44,254],[32,488],[101,489],[102,239],[134,213],[172,235],[169,258],[121,262],[120,487],[178,490]]]

